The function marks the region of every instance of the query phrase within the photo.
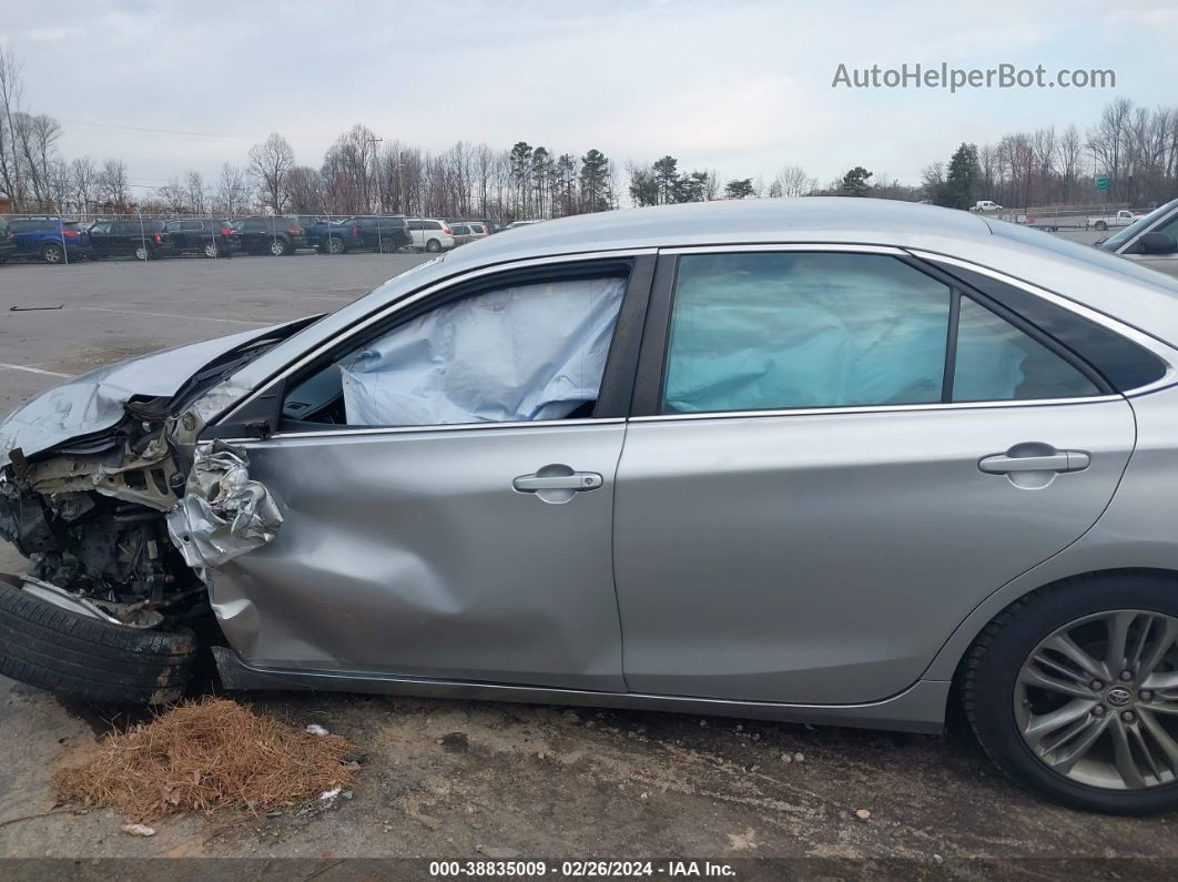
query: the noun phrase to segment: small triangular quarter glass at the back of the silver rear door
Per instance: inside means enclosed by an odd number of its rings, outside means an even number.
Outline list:
[[[961,298],[954,402],[1080,398],[1100,390],[1041,343],[968,297]]]

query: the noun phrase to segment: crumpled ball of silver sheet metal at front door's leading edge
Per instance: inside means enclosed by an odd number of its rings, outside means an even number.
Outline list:
[[[167,513],[172,542],[198,573],[260,548],[282,524],[274,497],[250,478],[246,452],[223,442],[196,449],[184,497]]]

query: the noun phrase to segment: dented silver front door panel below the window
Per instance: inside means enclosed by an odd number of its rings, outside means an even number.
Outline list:
[[[573,420],[243,443],[283,523],[212,575],[225,636],[266,668],[623,689],[610,548],[623,432]],[[514,489],[544,466],[604,479],[548,500]]]

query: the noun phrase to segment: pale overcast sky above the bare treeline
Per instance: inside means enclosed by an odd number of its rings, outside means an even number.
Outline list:
[[[55,0],[6,4],[0,28],[62,153],[123,158],[151,186],[245,165],[270,132],[318,166],[355,122],[431,150],[525,140],[620,164],[670,153],[726,179],[798,164],[825,184],[865,165],[916,183],[962,140],[1084,130],[1118,95],[1178,104],[1176,37],[1173,0]],[[1113,68],[1117,88],[830,86],[840,62],[942,61]]]

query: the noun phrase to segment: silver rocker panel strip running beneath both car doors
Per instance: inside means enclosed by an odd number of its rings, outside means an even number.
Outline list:
[[[231,691],[310,690],[402,695],[417,698],[462,698],[523,704],[571,704],[589,708],[661,710],[676,714],[776,719],[814,725],[849,725],[863,729],[939,735],[945,724],[949,681],[921,679],[899,695],[869,704],[774,704],[691,698],[637,692],[593,692],[548,687],[499,683],[464,683],[418,677],[373,676],[338,671],[303,671],[252,668],[226,646],[213,646],[223,685]]]

